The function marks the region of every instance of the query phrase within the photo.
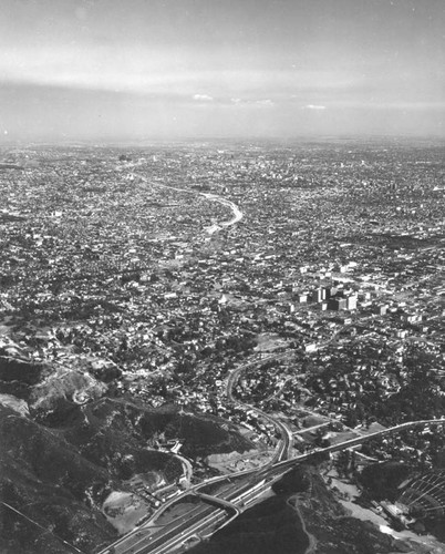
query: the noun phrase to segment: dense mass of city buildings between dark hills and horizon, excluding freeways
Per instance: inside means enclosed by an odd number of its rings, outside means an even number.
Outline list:
[[[35,163],[20,168],[23,155]],[[273,429],[218,399],[229,369],[288,349],[268,401],[359,424],[366,402],[403,392],[413,342],[445,371],[437,156],[352,144],[10,152],[1,332],[30,359],[82,360],[108,393],[219,413],[270,442]],[[231,214],[203,192],[242,219],[209,234]],[[255,371],[242,398],[260,398]]]

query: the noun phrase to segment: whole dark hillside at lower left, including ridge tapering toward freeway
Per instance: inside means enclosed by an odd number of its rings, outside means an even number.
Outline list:
[[[95,551],[116,538],[100,511],[111,491],[128,490],[125,481],[136,473],[158,472],[167,482],[182,474],[176,458],[153,449],[157,440],[170,438],[182,438],[192,456],[252,448],[234,427],[222,429],[218,418],[175,407],[153,409],[107,398],[84,406],[61,400],[33,421],[0,406],[1,497],[84,552]],[[0,552],[71,552],[66,548],[2,507]]]

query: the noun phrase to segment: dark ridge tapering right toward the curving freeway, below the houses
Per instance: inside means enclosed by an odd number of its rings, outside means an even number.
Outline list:
[[[69,418],[74,422],[68,423],[62,418],[55,423],[52,418],[51,424],[77,445],[83,455],[108,469],[113,463],[105,458],[122,450],[123,444],[128,453],[132,448],[153,445],[159,438],[183,440],[182,452],[190,458],[253,448],[235,425],[224,421],[222,428],[218,418],[183,412],[175,406],[154,409],[124,399],[102,398],[85,407],[72,407]],[[97,458],[101,455],[105,458]]]

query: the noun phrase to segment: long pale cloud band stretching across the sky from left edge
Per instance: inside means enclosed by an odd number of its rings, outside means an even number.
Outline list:
[[[275,68],[215,69],[210,60],[199,69],[189,69],[190,52],[172,55],[163,48],[133,44],[6,45],[0,57],[1,83],[90,89],[133,94],[167,94],[201,104],[224,103],[271,106],[286,94],[299,93],[296,102],[304,105],[310,98],[319,101],[320,91],[350,91],[356,85],[349,74],[332,71],[282,71]],[[360,83],[359,83],[360,84]],[[197,91],[204,91],[198,92]],[[314,94],[315,93],[315,94]],[[304,95],[303,95],[304,94]],[[269,102],[262,99],[271,99]],[[256,104],[258,102],[258,104]]]

